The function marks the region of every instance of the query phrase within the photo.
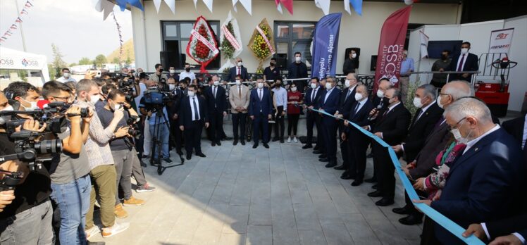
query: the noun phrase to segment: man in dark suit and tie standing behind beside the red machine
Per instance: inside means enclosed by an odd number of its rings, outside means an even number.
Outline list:
[[[478,67],[478,56],[476,54],[469,53],[470,42],[463,42],[461,44],[461,54],[454,56],[447,70],[464,72],[464,71],[476,71]],[[465,80],[471,82],[472,74],[461,73],[461,74],[450,74],[449,81],[452,80]]]

